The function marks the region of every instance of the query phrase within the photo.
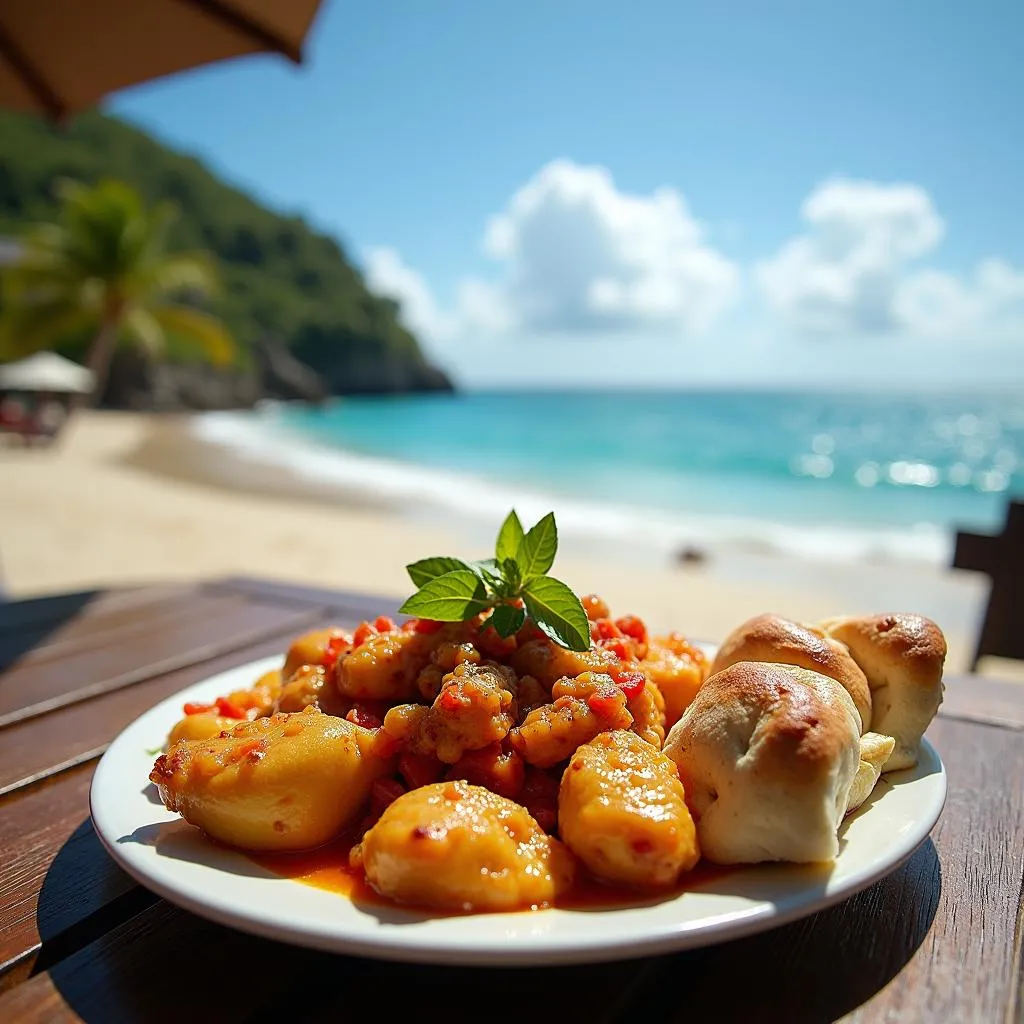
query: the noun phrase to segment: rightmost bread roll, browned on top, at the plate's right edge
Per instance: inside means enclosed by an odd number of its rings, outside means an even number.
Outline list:
[[[830,618],[821,628],[846,644],[867,677],[871,732],[896,740],[883,771],[913,767],[921,737],[942,703],[942,631],[922,615],[901,613]]]

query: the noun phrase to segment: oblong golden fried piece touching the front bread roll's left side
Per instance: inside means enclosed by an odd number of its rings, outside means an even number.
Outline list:
[[[562,775],[558,828],[604,882],[671,886],[700,857],[672,760],[634,732],[602,732]]]

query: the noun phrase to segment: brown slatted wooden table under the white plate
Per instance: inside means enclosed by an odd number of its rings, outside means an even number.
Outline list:
[[[753,938],[599,967],[406,967],[209,924],[101,849],[88,792],[106,743],[215,672],[393,602],[251,580],[0,605],[0,1021],[1024,1022],[1024,687],[947,680],[929,737],[949,798],[910,860]]]

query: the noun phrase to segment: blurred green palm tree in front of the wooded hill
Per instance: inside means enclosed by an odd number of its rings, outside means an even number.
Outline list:
[[[92,331],[85,361],[97,399],[122,339],[159,355],[173,336],[214,362],[231,361],[226,328],[195,305],[216,290],[212,262],[168,251],[173,207],[147,208],[130,185],[111,180],[63,182],[58,197],[57,222],[32,228],[4,275],[5,354]]]

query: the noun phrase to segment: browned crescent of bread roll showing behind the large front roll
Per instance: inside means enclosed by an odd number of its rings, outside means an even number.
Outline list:
[[[871,721],[871,694],[867,680],[842,643],[820,629],[793,623],[780,615],[758,615],[734,629],[719,647],[711,674],[737,662],[772,662],[820,672],[841,683],[853,697],[860,731]]]

